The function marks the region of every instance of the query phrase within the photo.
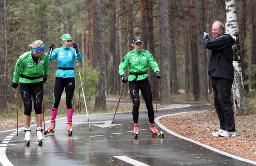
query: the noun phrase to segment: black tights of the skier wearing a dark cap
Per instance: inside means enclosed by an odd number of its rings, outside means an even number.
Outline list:
[[[129,81],[129,89],[133,100],[133,122],[139,119],[139,89],[143,95],[148,109],[148,119],[150,123],[154,122],[154,109],[152,104],[152,92],[148,78],[139,81]]]

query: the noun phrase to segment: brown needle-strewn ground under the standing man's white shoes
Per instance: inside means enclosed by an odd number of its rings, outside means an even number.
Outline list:
[[[219,130],[216,112],[188,112],[162,118],[160,122],[177,134],[221,151],[256,161],[256,113],[235,117],[237,137],[213,137]]]

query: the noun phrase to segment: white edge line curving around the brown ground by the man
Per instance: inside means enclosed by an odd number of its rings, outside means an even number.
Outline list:
[[[245,159],[245,158],[241,158],[241,157],[239,157],[239,156],[235,156],[235,155],[232,155],[232,154],[230,154],[230,153],[223,152],[223,151],[221,151],[221,150],[218,150],[217,148],[208,146],[208,145],[203,144],[203,143],[201,143],[201,142],[198,142],[198,141],[195,141],[195,140],[191,140],[191,139],[189,139],[189,138],[186,138],[186,137],[183,137],[183,136],[181,136],[181,135],[178,135],[176,132],[173,132],[172,130],[169,130],[168,128],[166,128],[164,125],[162,125],[162,124],[159,122],[160,119],[163,118],[163,117],[173,116],[173,115],[182,114],[182,113],[188,113],[188,112],[180,112],[180,113],[175,113],[175,114],[162,115],[162,116],[160,116],[160,117],[155,118],[155,123],[156,123],[157,125],[159,125],[159,127],[161,127],[163,130],[165,130],[166,132],[168,132],[168,133],[171,134],[171,135],[174,135],[174,136],[179,137],[179,138],[181,138],[181,139],[184,139],[184,140],[193,142],[193,143],[195,143],[195,144],[197,144],[197,145],[200,145],[200,146],[203,146],[203,147],[205,147],[205,148],[208,148],[208,150],[217,152],[217,153],[219,153],[219,154],[222,154],[222,155],[225,155],[225,156],[228,156],[228,157],[231,157],[231,158],[240,160],[240,161],[244,161],[244,162],[248,162],[248,163],[251,163],[251,164],[256,165],[256,161],[252,161],[252,160],[248,160],[248,159]]]

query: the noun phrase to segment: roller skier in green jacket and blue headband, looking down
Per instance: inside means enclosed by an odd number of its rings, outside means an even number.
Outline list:
[[[31,140],[31,112],[32,97],[36,113],[37,140],[39,145],[42,144],[42,99],[43,84],[48,76],[48,55],[46,54],[45,44],[36,40],[30,45],[32,51],[22,54],[16,62],[15,71],[13,72],[12,87],[20,86],[20,93],[24,103],[24,125],[25,125],[25,142],[30,144]],[[20,85],[18,84],[20,83]]]

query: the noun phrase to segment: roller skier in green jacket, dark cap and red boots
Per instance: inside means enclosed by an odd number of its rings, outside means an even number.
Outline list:
[[[143,48],[143,39],[141,37],[135,37],[133,39],[132,46],[133,51],[127,53],[122,59],[119,65],[119,75],[122,78],[122,82],[129,81],[129,89],[133,100],[133,134],[135,139],[138,136],[138,118],[139,118],[139,89],[143,95],[146,106],[148,109],[148,118],[150,123],[150,131],[153,136],[163,137],[162,132],[159,132],[154,127],[154,109],[152,104],[152,92],[148,80],[147,70],[149,65],[155,73],[155,76],[160,79],[161,74],[157,61],[150,52]],[[124,73],[124,70],[129,67],[129,77]]]

